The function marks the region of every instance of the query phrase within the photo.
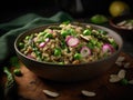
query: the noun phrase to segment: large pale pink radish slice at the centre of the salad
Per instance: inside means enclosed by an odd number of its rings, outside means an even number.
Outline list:
[[[78,46],[79,42],[80,41],[79,41],[78,38],[74,38],[74,37],[71,37],[71,36],[66,39],[66,44],[70,46],[70,47],[75,47],[75,46]]]

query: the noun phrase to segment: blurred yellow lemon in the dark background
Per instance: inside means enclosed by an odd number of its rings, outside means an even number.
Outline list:
[[[122,16],[122,14],[129,12],[130,11],[130,7],[124,1],[116,0],[116,1],[113,1],[110,4],[109,11],[110,11],[112,17],[117,17],[117,16]]]

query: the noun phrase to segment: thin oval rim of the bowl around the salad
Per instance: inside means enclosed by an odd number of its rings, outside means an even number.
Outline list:
[[[117,32],[115,32],[114,30],[112,30],[112,29],[110,29],[110,28],[103,27],[103,26],[98,26],[98,24],[93,24],[93,23],[85,23],[85,22],[80,22],[80,23],[81,23],[81,24],[89,24],[89,26],[92,26],[92,27],[95,27],[95,28],[100,28],[100,29],[103,29],[103,30],[109,30],[109,31],[115,33],[115,34],[120,38],[120,40],[121,40],[121,46],[119,46],[119,49],[117,49],[113,54],[111,54],[111,56],[109,56],[109,57],[105,57],[105,58],[102,58],[102,59],[99,59],[99,60],[95,60],[95,61],[92,61],[92,62],[83,62],[83,63],[80,63],[80,64],[72,64],[72,63],[70,63],[70,64],[58,64],[58,63],[53,63],[53,62],[37,61],[37,60],[34,60],[34,59],[28,58],[28,57],[24,56],[22,52],[20,52],[20,50],[18,49],[18,46],[17,46],[17,44],[18,44],[18,40],[19,40],[22,36],[24,36],[24,34],[29,33],[29,31],[35,30],[35,29],[38,29],[38,28],[49,27],[49,26],[51,26],[51,24],[52,24],[52,26],[53,26],[53,24],[60,24],[60,23],[49,23],[49,24],[43,24],[43,26],[39,26],[39,27],[35,27],[35,28],[31,28],[31,29],[29,29],[29,30],[20,33],[20,34],[16,38],[16,40],[14,40],[14,44],[13,44],[14,50],[16,50],[19,54],[21,54],[23,58],[25,58],[25,59],[28,59],[28,60],[31,60],[31,61],[33,61],[33,62],[38,62],[38,63],[41,63],[41,64],[44,63],[44,64],[50,64],[50,66],[57,66],[57,67],[71,67],[71,66],[74,66],[74,67],[80,67],[80,66],[85,67],[84,64],[93,64],[93,63],[102,62],[102,61],[104,61],[104,60],[106,60],[106,59],[110,59],[110,58],[114,57],[115,54],[119,54],[119,53],[120,53],[120,51],[121,51],[122,48],[123,48],[123,39],[122,39],[122,37],[121,37]],[[30,33],[29,33],[29,34],[30,34]]]

